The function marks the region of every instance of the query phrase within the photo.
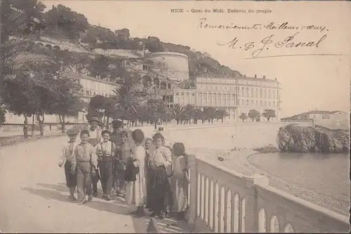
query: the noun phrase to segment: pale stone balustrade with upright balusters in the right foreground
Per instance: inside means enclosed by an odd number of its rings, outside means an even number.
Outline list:
[[[348,218],[237,172],[190,156],[190,209],[195,232],[348,232]]]

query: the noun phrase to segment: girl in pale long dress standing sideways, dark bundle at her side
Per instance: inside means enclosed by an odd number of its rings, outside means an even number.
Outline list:
[[[126,167],[126,202],[135,205],[137,209],[132,214],[136,218],[145,216],[144,205],[146,198],[145,183],[145,149],[143,147],[144,133],[137,129],[132,132],[135,148]],[[138,167],[138,170],[135,170]]]

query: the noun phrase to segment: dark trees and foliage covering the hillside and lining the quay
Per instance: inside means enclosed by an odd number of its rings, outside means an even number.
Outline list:
[[[185,53],[190,59],[190,76],[220,74],[241,76],[237,71],[219,64],[207,53],[200,53],[188,46],[164,43],[157,37],[147,39],[131,38],[128,29],[110,29],[88,24],[84,15],[58,5],[44,13],[45,6],[37,0],[1,1],[1,99],[0,123],[4,123],[4,113],[11,111],[24,117],[35,116],[44,134],[45,114],[55,114],[60,118],[65,131],[65,117],[77,116],[79,111],[87,111],[86,118],[98,117],[109,125],[112,119],[121,118],[131,123],[159,123],[175,119],[178,124],[213,123],[228,116],[225,109],[207,107],[197,109],[188,104],[181,106],[155,99],[155,86],[145,85],[141,76],[133,69],[124,69],[124,59],[92,55],[57,48],[35,45],[41,37],[64,40],[76,46],[94,49],[140,50],[145,46],[150,51],[173,51]],[[15,39],[11,39],[15,36]],[[143,43],[140,43],[143,42]],[[131,64],[147,64],[151,69],[159,66],[150,61],[130,60]],[[81,85],[74,79],[62,76],[65,71],[76,69],[81,74],[114,78],[119,87],[114,97],[97,95],[88,104],[79,99]],[[190,88],[194,83],[181,83]],[[252,112],[252,111],[251,111]],[[240,118],[248,118],[243,113]],[[245,117],[246,116],[246,117]],[[274,111],[265,110],[267,119],[274,117]],[[251,119],[259,114],[249,113]],[[34,120],[34,118],[32,118]],[[33,123],[34,124],[34,123]],[[27,135],[26,132],[24,132]]]

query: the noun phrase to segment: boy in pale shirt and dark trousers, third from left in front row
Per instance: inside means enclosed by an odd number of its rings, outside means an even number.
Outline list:
[[[111,132],[109,130],[103,130],[101,135],[103,141],[96,146],[96,155],[98,156],[98,167],[100,169],[101,177],[100,181],[104,193],[102,198],[111,200],[116,145],[113,142],[110,142]]]

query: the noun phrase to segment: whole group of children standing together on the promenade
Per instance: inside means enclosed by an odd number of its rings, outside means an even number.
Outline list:
[[[90,202],[98,196],[100,180],[102,198],[111,200],[112,193],[123,196],[128,205],[137,207],[131,212],[136,217],[145,216],[147,208],[150,216],[159,219],[171,214],[183,219],[189,183],[184,145],[174,144],[171,153],[160,133],[145,139],[142,130],[123,130],[123,123],[118,121],[112,123],[113,132],[102,130],[98,136],[94,122],[89,130],[68,130],[69,142],[62,146],[59,166],[65,166],[69,199],[76,200],[77,187],[81,204]]]

